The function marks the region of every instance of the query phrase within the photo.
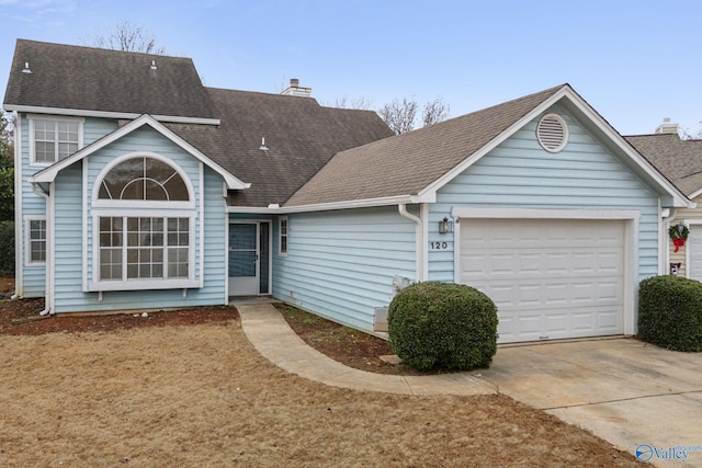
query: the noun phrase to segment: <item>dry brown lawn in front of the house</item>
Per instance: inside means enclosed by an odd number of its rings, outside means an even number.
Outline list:
[[[0,466],[634,466],[503,396],[331,388],[262,358],[234,318],[0,335]]]

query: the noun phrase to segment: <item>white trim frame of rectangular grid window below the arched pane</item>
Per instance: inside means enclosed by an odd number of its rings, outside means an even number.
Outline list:
[[[92,275],[88,282],[88,290],[143,290],[143,289],[180,289],[196,288],[200,281],[195,277],[195,227],[197,221],[197,213],[195,210],[162,210],[155,212],[151,209],[93,209],[92,210]],[[100,218],[188,218],[188,277],[176,279],[118,279],[118,281],[101,281],[100,279]],[[166,239],[165,239],[166,242]],[[123,249],[126,246],[122,247]],[[165,266],[167,266],[165,264]]]

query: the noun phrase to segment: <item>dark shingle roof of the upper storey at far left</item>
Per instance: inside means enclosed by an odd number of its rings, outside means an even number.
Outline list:
[[[31,73],[22,72],[25,62]],[[5,106],[216,118],[190,58],[25,39],[16,42],[3,102]]]

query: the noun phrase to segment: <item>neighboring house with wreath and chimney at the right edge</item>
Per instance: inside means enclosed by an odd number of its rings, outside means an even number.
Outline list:
[[[702,140],[684,140],[678,125],[665,119],[653,135],[625,137],[638,152],[680,189],[695,207],[670,209],[664,219],[664,232],[682,222],[689,237],[684,246],[673,246],[669,236],[661,263],[667,272],[702,281]]]

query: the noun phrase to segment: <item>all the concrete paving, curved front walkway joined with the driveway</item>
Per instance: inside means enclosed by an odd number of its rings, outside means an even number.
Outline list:
[[[632,339],[540,343],[500,346],[489,369],[388,376],[349,368],[309,347],[270,304],[237,309],[253,346],[301,377],[404,395],[500,392],[638,452],[643,461],[673,466],[684,457],[686,467],[702,467],[702,353]]]

